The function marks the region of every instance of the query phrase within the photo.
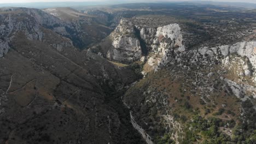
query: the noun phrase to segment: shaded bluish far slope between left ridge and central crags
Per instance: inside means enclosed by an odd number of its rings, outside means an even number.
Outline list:
[[[48,8],[43,11],[73,27],[67,28],[67,31],[70,34],[69,38],[79,49],[86,49],[89,45],[100,42],[113,31],[106,22],[99,21],[100,17],[97,15],[80,13],[72,8]]]

